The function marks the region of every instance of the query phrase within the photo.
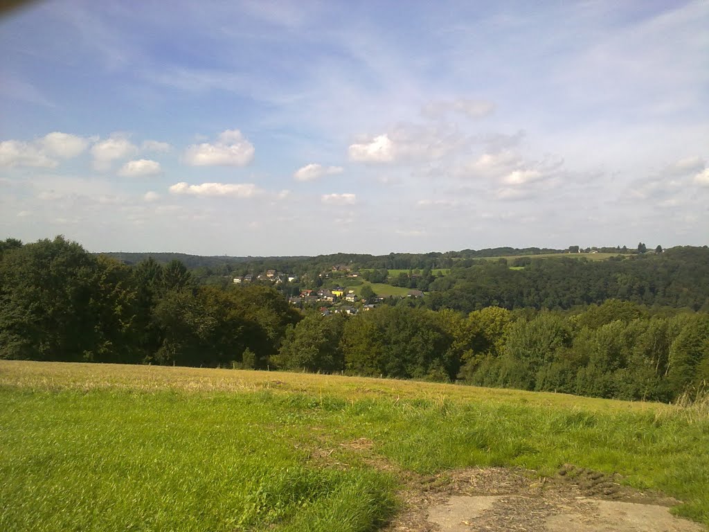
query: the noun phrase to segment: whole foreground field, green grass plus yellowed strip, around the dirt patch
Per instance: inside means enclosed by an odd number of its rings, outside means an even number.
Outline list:
[[[706,411],[386,379],[0,361],[2,531],[368,531],[407,475],[574,463],[709,523]]]

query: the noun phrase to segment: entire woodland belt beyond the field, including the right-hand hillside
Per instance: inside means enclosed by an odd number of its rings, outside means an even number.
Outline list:
[[[467,260],[464,260],[467,261]],[[518,266],[519,268],[519,266]],[[345,372],[672,401],[709,379],[709,250],[462,262],[424,298],[301,311],[62,237],[0,243],[0,358]],[[625,300],[625,301],[624,301]]]

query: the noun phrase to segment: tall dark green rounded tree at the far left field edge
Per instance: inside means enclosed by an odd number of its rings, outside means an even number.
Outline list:
[[[0,260],[0,356],[130,361],[134,294],[128,270],[61,236]]]

